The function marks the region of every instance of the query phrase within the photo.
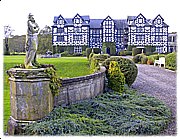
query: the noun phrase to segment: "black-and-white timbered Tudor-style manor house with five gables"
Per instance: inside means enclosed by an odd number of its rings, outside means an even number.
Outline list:
[[[168,25],[161,15],[147,19],[142,14],[127,19],[90,19],[75,15],[74,18],[54,17],[52,43],[58,50],[68,47],[71,53],[82,53],[84,47],[102,49],[104,42],[114,42],[116,52],[128,45],[144,48],[153,46],[156,52],[168,52]]]

